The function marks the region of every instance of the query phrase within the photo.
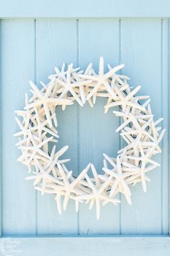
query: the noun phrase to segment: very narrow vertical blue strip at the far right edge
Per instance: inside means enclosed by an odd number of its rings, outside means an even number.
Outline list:
[[[166,129],[161,142],[161,202],[162,202],[162,234],[169,233],[169,22],[161,20],[161,116],[164,116],[162,126]]]

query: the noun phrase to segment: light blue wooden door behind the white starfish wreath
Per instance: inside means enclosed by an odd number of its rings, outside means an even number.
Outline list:
[[[20,251],[12,253],[22,256],[170,255],[169,10],[165,0],[1,3],[2,248],[20,242]],[[130,84],[142,85],[156,118],[164,116],[166,137],[156,158],[161,167],[150,174],[147,193],[140,184],[132,188],[132,206],[122,197],[121,205],[104,206],[97,221],[95,209],[81,205],[76,214],[70,202],[59,216],[53,196],[41,196],[24,180],[27,170],[16,161],[14,110],[24,106],[28,80],[48,82],[63,61],[83,69],[92,61],[98,69],[100,56],[106,68],[124,63]],[[99,99],[92,110],[76,103],[58,110],[58,147],[69,145],[68,166],[75,175],[89,162],[102,170],[102,153],[116,155],[122,145],[115,133],[119,119],[104,114],[103,106]]]

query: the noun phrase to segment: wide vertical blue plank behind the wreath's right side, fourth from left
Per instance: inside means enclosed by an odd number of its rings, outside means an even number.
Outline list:
[[[134,19],[121,22],[121,62],[131,77],[130,85],[142,85],[140,94],[151,96],[155,119],[161,117],[161,20]],[[156,156],[161,163],[161,155]],[[161,233],[161,168],[151,174],[147,193],[131,187],[133,205],[122,199],[122,234]],[[167,196],[167,195],[165,195]]]

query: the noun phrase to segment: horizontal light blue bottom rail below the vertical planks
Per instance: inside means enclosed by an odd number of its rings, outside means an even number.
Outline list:
[[[4,238],[3,238],[4,239]],[[106,236],[106,237],[40,237],[0,239],[10,246],[10,241],[17,255],[22,256],[169,256],[170,242],[168,236]],[[15,244],[16,242],[16,244]],[[15,247],[16,245],[16,247]],[[7,250],[10,247],[5,247]],[[10,251],[12,252],[12,250]]]

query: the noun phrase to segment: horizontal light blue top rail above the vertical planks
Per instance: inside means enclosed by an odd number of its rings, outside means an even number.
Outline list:
[[[6,0],[0,17],[169,17],[169,7],[169,0]]]

